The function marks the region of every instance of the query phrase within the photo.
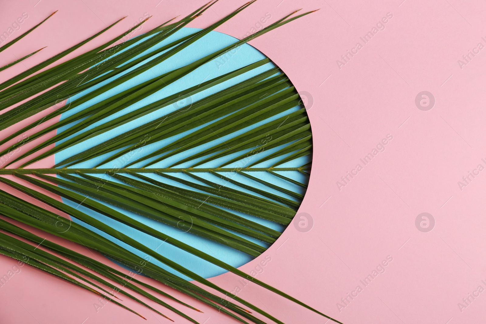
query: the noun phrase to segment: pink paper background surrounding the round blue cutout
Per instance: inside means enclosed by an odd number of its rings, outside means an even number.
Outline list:
[[[0,66],[48,46],[25,60],[25,66],[1,72],[1,80],[120,17],[129,15],[104,38],[83,49],[133,26],[145,12],[154,17],[139,33],[204,4],[176,0],[158,4],[158,0],[37,1],[0,3],[0,32],[23,12],[29,15],[11,38],[59,9],[42,27],[1,53]],[[345,324],[483,323],[486,292],[475,300],[470,298],[472,302],[462,312],[458,303],[464,304],[462,299],[478,286],[486,289],[481,282],[486,282],[486,171],[462,191],[457,182],[478,164],[486,167],[481,161],[486,160],[486,49],[462,69],[457,61],[479,42],[486,46],[481,39],[486,38],[486,3],[401,1],[260,0],[218,28],[242,38],[267,12],[273,22],[301,7],[321,8],[251,42],[287,73],[299,92],[312,95],[313,105],[307,107],[314,136],[312,176],[299,212],[309,213],[314,224],[306,233],[289,226],[267,252],[241,270],[249,273],[260,259],[271,256],[258,279]],[[244,2],[221,0],[190,27],[206,27]],[[360,37],[387,13],[393,17],[385,29],[339,69],[336,60],[357,42],[363,45]],[[435,97],[429,111],[415,105],[417,93],[424,90]],[[360,158],[387,134],[393,139],[386,150],[339,190],[336,181],[362,164]],[[52,161],[44,163],[52,165]],[[422,212],[435,219],[435,227],[428,233],[415,226]],[[92,257],[83,247],[74,248]],[[364,287],[360,280],[387,256],[393,261],[385,272]],[[0,257],[0,275],[15,264]],[[232,274],[211,280],[227,290],[241,287],[239,278]],[[363,291],[338,309],[336,304],[358,285]],[[244,287],[239,296],[285,323],[327,321],[254,285]],[[127,298],[122,298],[124,304],[144,315],[146,322],[115,305],[96,312],[93,304],[97,299],[24,266],[0,288],[0,322],[169,323]],[[155,307],[177,323],[186,323]],[[205,324],[238,323],[208,307],[200,308],[204,314],[183,310]]]

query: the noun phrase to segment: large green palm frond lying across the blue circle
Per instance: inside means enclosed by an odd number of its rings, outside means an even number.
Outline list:
[[[54,65],[63,56],[113,27],[118,20],[85,41],[1,83],[0,130],[32,118],[58,102],[67,100],[68,103],[57,106],[44,117],[35,118],[0,141],[5,147],[0,152],[3,162],[0,182],[4,189],[0,189],[0,213],[12,222],[83,244],[242,323],[265,323],[252,315],[251,309],[282,324],[273,315],[103,220],[110,219],[167,242],[340,323],[143,221],[165,224],[187,236],[206,239],[256,257],[278,239],[278,226],[284,228],[292,222],[307,188],[312,154],[310,123],[295,87],[269,59],[205,79],[174,94],[160,95],[158,91],[249,40],[311,12],[293,16],[294,12],[193,62],[122,91],[115,89],[159,64],[166,64],[196,41],[204,41],[206,35],[254,1],[205,29],[180,36],[183,27],[215,2],[207,3],[178,21],[171,19],[145,34],[110,47],[138,28],[142,21],[103,45]],[[157,44],[162,45],[157,47]],[[35,72],[38,73],[33,75]],[[158,95],[156,101],[126,109],[155,93]],[[181,101],[186,103],[179,105]],[[154,112],[159,117],[149,121],[143,119]],[[61,114],[64,114],[63,118],[52,122]],[[138,126],[131,123],[140,120],[145,121]],[[44,125],[45,121],[50,123]],[[37,128],[39,125],[43,127]],[[41,138],[53,130],[57,130],[55,136]],[[24,136],[27,133],[31,135]],[[22,139],[12,143],[19,136]],[[53,154],[62,156],[62,159],[52,168],[27,168]],[[287,165],[288,162],[302,161],[303,157],[306,157],[304,165]],[[58,195],[62,201],[46,193]],[[49,205],[56,212],[27,202],[21,198],[25,195],[35,198],[42,206]],[[75,208],[72,204],[83,208]],[[73,221],[58,213],[69,215]],[[171,298],[191,310],[198,309],[131,275],[41,239],[3,219],[0,219],[0,229],[10,234],[0,232],[0,254],[27,260],[24,262],[103,295],[106,300],[132,312],[112,297],[121,293],[167,317],[128,292],[132,290],[197,323],[153,293]],[[17,237],[38,244],[42,249]],[[138,253],[157,262],[147,261]],[[187,278],[217,293],[211,293]],[[107,279],[120,284],[123,290]]]

